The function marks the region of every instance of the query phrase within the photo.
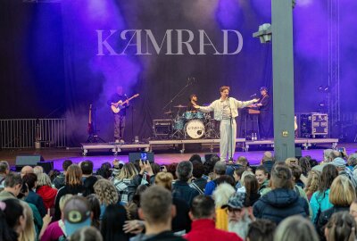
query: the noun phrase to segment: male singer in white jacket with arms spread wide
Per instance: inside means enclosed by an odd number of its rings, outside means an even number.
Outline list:
[[[200,112],[214,112],[214,119],[220,120],[220,161],[223,162],[227,161],[227,154],[229,161],[232,161],[236,150],[237,109],[258,102],[257,99],[242,102],[228,95],[229,87],[223,86],[220,87],[220,99],[206,107],[195,105]]]

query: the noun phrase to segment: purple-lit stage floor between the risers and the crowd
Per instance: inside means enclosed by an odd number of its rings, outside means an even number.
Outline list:
[[[323,149],[330,148],[330,145],[319,145],[317,147],[311,148],[309,150],[303,150],[303,155],[311,155],[313,159],[318,161],[322,160]],[[357,144],[338,144],[337,147],[345,147],[348,154],[354,153],[357,151]],[[249,152],[240,151],[237,148],[237,152],[234,155],[234,159],[241,155],[247,157],[248,161],[252,165],[258,165],[262,160],[262,154],[265,151],[272,151],[272,148],[265,147],[264,149],[254,149],[251,148]],[[213,150],[213,153],[218,153],[218,148]],[[187,161],[192,154],[200,154],[204,157],[204,154],[209,154],[210,150],[199,150],[199,149],[187,149],[187,152],[181,154],[179,150],[167,148],[167,146],[162,146],[162,149],[154,150],[154,161],[159,164],[169,164],[172,162],[181,162]],[[114,159],[119,159],[123,162],[129,161],[128,152],[119,153],[117,156],[114,156],[112,152],[94,152],[90,153],[91,155],[83,156],[81,148],[68,148],[68,149],[23,149],[23,150],[1,150],[0,151],[0,160],[8,161],[12,166],[15,165],[15,159],[17,155],[20,154],[41,154],[45,161],[54,161],[54,169],[62,170],[62,162],[66,159],[70,159],[72,162],[82,162],[85,160],[91,160],[94,162],[95,170],[98,169],[104,162],[112,162]]]

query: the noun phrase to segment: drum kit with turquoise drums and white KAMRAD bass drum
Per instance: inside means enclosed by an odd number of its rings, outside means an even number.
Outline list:
[[[179,104],[173,106],[177,112],[165,112],[172,120],[171,138],[220,138],[216,128],[216,120],[209,113],[184,112],[187,106]],[[174,114],[176,115],[174,116]]]

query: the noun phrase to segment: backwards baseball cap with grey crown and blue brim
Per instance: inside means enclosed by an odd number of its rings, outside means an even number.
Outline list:
[[[67,237],[70,237],[76,230],[91,224],[91,211],[86,198],[83,196],[73,196],[64,205],[64,228]]]

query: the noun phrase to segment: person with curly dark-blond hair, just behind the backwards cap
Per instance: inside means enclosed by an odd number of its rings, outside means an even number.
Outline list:
[[[95,182],[95,195],[101,204],[101,216],[100,220],[103,218],[104,211],[109,204],[118,204],[119,195],[110,180],[99,179]]]

